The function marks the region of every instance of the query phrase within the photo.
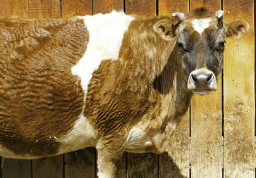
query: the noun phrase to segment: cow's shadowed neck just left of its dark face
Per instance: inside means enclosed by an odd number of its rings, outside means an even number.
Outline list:
[[[178,117],[186,113],[193,94],[187,89],[187,82],[182,71],[177,47],[173,49],[161,74],[154,80],[154,88],[162,95],[169,97],[169,110],[172,113],[168,114],[168,117]]]

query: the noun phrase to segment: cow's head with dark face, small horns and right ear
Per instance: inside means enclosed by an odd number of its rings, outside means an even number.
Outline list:
[[[223,22],[224,12],[200,8],[188,13],[173,13],[180,20],[177,29],[177,48],[188,89],[195,94],[208,94],[217,89],[225,38],[241,38],[249,29],[247,22]]]

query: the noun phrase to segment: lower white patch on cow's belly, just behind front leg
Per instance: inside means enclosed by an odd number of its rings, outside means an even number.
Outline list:
[[[60,142],[58,154],[95,146],[95,137],[93,126],[81,114],[73,128],[66,135],[58,138],[57,142]]]

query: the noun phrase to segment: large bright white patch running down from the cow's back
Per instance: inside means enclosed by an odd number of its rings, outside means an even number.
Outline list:
[[[99,13],[78,18],[84,20],[90,37],[86,52],[72,68],[72,74],[81,78],[81,86],[86,96],[92,73],[97,70],[101,61],[118,59],[124,33],[134,17],[125,15],[123,11],[113,10],[105,15]]]

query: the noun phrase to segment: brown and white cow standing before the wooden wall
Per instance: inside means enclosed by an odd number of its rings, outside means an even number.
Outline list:
[[[113,177],[124,151],[166,151],[192,95],[216,91],[224,38],[248,29],[204,8],[0,19],[0,155],[95,146],[99,177]]]

